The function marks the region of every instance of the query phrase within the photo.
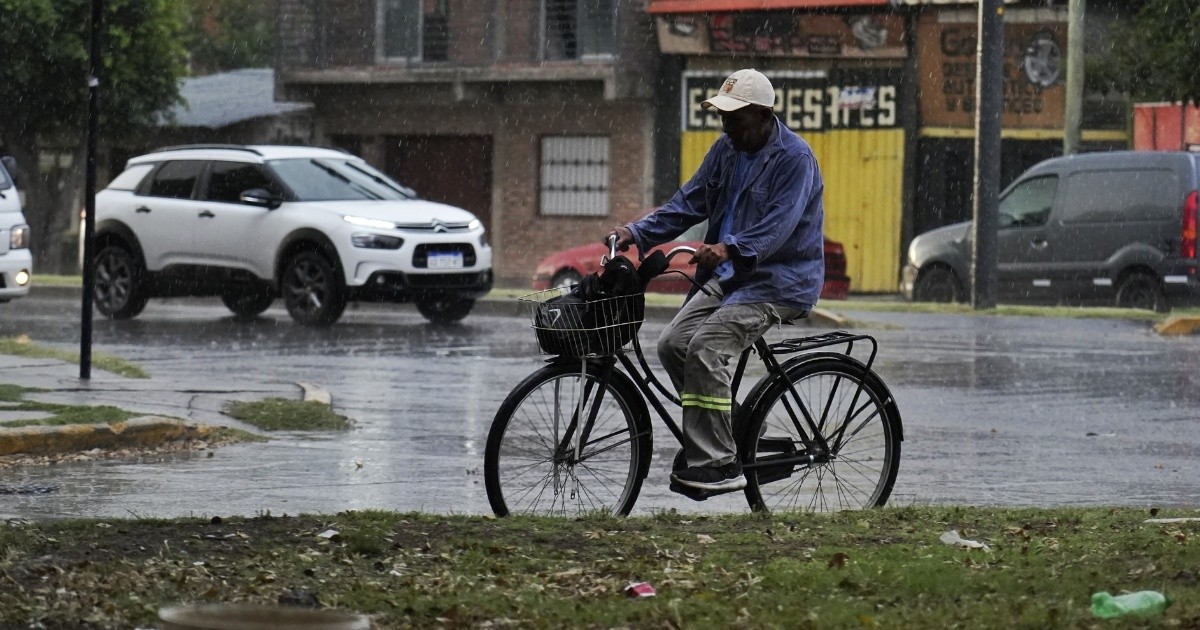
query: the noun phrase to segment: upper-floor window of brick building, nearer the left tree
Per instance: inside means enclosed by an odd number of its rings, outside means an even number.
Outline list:
[[[445,61],[450,49],[449,0],[379,0],[384,59]]]

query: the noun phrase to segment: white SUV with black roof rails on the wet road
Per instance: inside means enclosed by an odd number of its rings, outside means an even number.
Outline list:
[[[300,324],[349,300],[413,301],[457,322],[492,288],[470,212],[418,199],[365,161],[307,146],[187,145],[128,161],[96,196],[95,304],[127,319],[160,296],[220,295]]]

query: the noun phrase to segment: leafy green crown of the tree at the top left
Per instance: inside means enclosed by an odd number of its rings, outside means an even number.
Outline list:
[[[102,125],[116,136],[148,125],[179,97],[185,26],[181,0],[106,0]],[[0,137],[80,139],[88,103],[91,0],[0,0]]]

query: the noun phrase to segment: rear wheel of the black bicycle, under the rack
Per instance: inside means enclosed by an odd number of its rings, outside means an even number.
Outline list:
[[[742,434],[746,500],[755,511],[840,511],[881,506],[900,467],[900,418],[871,372],[840,356],[787,368],[792,388],[767,386]],[[828,451],[811,438],[802,408]]]

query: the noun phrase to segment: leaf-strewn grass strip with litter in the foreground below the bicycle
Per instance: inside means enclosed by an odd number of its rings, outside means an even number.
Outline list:
[[[1174,604],[1135,626],[1195,628],[1200,523],[1146,522],[1156,515],[1198,512],[362,511],[12,523],[0,526],[0,626],[148,626],[175,602],[302,595],[384,629],[1102,628],[1114,623],[1092,617],[1093,593],[1150,589]],[[949,529],[990,551],[940,542]],[[656,596],[625,598],[635,581]]]

